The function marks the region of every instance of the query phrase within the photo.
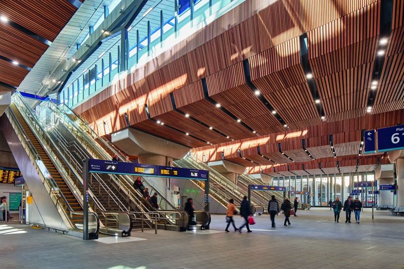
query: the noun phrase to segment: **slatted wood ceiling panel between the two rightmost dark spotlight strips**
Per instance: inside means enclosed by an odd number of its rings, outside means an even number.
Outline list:
[[[308,32],[309,61],[327,121],[366,113],[379,12],[380,3],[372,4]]]

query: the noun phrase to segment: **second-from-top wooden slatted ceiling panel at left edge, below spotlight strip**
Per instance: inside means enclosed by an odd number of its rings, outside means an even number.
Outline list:
[[[0,36],[0,55],[31,68],[47,49],[44,43],[5,23],[0,23]]]

